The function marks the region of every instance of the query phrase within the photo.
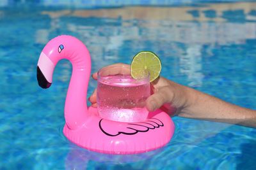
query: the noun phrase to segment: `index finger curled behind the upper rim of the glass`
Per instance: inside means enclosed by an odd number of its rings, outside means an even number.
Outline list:
[[[100,69],[100,76],[109,76],[109,75],[116,75],[116,74],[130,74],[131,72],[131,67],[128,64],[123,64],[123,63],[117,63],[117,64],[112,64],[110,66],[102,67]],[[98,73],[93,73],[92,78],[94,80],[97,80]]]

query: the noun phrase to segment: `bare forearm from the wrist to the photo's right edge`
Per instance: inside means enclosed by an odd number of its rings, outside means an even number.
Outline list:
[[[179,113],[180,117],[198,118],[230,124],[256,127],[256,111],[227,103],[194,89],[188,92],[187,106]]]

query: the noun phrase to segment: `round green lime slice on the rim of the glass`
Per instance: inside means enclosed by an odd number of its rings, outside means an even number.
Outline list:
[[[134,79],[139,79],[148,71],[150,82],[152,82],[159,76],[161,69],[161,60],[155,53],[139,52],[132,59],[131,76]]]

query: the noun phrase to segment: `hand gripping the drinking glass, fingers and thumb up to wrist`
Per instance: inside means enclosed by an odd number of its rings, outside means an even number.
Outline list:
[[[130,74],[131,67],[128,64],[113,64],[104,67],[105,74]],[[93,73],[92,77],[97,80],[97,73]],[[148,111],[161,108],[167,113],[173,114],[175,111],[182,111],[188,106],[187,87],[174,83],[159,76],[150,83],[151,96],[146,100]],[[97,107],[97,90],[95,89],[92,96],[89,97],[92,107]]]

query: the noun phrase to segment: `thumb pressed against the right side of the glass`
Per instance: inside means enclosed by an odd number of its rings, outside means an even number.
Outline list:
[[[170,92],[168,87],[163,87],[157,90],[156,93],[152,94],[152,96],[148,97],[146,101],[146,107],[148,111],[155,111],[164,103],[168,103],[170,99],[172,99],[173,94]]]

